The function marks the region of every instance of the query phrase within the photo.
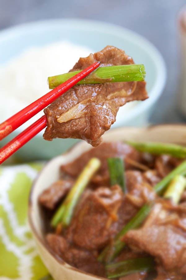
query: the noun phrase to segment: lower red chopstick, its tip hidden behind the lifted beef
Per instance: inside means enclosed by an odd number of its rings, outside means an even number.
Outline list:
[[[36,134],[38,134],[47,125],[46,115],[42,116],[35,123],[31,124],[23,132],[17,135],[9,143],[0,149],[0,164],[7,160],[11,155],[13,155],[17,150],[19,150],[24,144],[26,144],[30,139],[32,139]]]

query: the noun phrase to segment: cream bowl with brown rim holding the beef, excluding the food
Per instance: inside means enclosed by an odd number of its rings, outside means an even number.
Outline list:
[[[186,145],[186,126],[177,124],[157,125],[148,128],[117,128],[104,134],[104,141],[157,141]],[[38,252],[48,271],[55,280],[95,280],[105,279],[85,273],[70,266],[53,254],[43,236],[43,221],[38,206],[38,196],[59,178],[59,167],[73,161],[83,152],[91,149],[91,145],[82,141],[63,155],[49,161],[33,183],[29,197],[29,224]]]

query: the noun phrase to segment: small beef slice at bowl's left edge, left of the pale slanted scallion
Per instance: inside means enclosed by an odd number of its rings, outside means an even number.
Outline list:
[[[55,205],[69,192],[74,184],[73,179],[58,180],[39,196],[39,203],[49,209]]]

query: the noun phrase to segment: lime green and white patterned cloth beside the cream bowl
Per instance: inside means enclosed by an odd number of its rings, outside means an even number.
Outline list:
[[[47,269],[29,231],[29,191],[42,164],[0,168],[0,279],[38,280]]]

